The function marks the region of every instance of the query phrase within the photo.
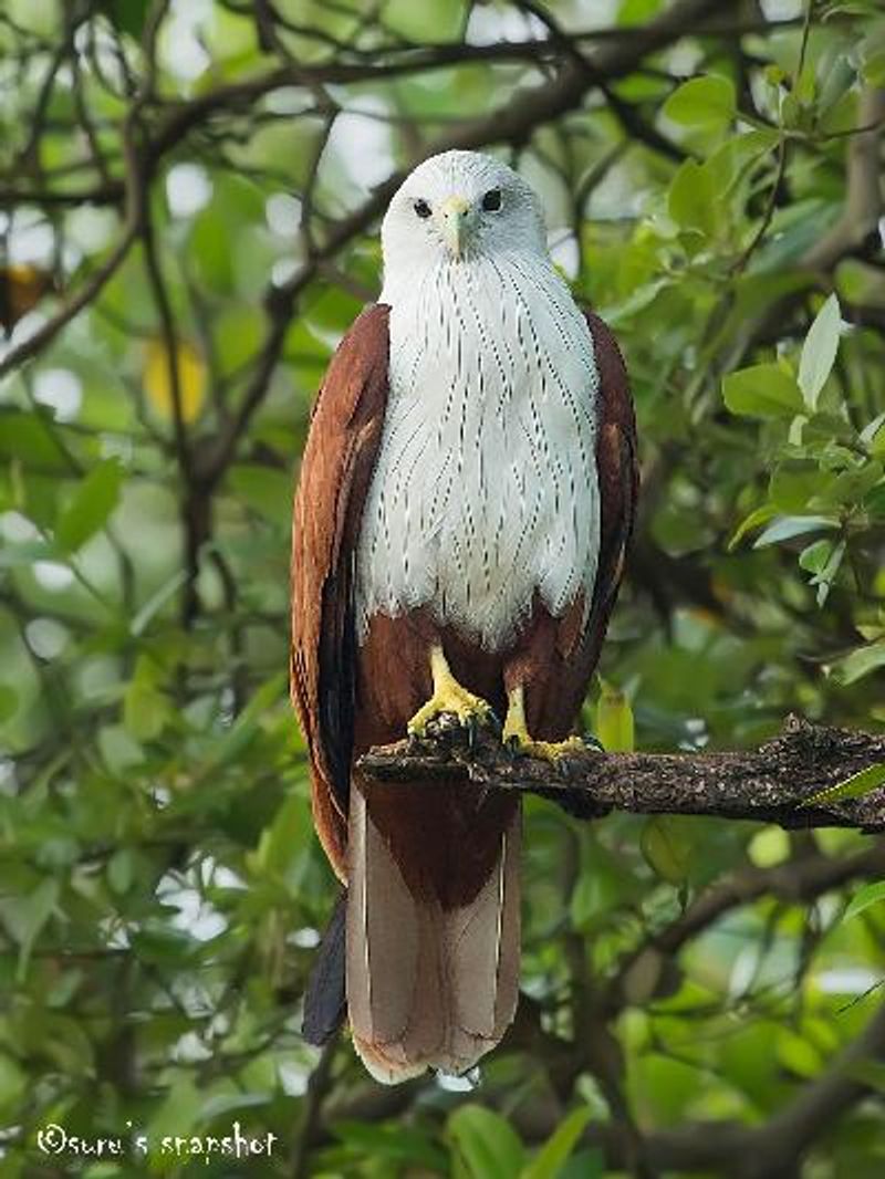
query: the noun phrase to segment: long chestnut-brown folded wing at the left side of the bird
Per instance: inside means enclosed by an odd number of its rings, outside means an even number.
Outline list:
[[[310,419],[291,545],[291,696],[310,755],[317,835],[345,880],[356,689],[354,546],[387,406],[389,308],[367,308]]]

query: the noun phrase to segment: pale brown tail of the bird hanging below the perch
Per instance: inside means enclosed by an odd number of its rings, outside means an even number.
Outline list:
[[[347,1005],[354,1046],[387,1085],[426,1068],[460,1074],[494,1047],[516,1010],[520,808],[510,799],[493,803],[493,814],[477,811],[459,838],[458,823],[445,830],[451,811],[434,805],[446,788],[379,789],[395,790],[400,799],[408,791],[407,809],[422,796],[444,829],[434,831],[433,819],[425,819],[425,844],[409,841],[418,867],[405,865],[395,834],[382,834],[362,790],[350,792]],[[493,843],[477,856],[471,836],[483,829]],[[451,850],[440,857],[439,843],[446,842]],[[460,896],[446,882],[439,887],[431,862],[452,874],[472,872],[474,883]]]

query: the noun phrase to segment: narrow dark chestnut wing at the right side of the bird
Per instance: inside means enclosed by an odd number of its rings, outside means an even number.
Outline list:
[[[598,315],[586,311],[586,323],[599,370],[596,473],[599,480],[599,559],[588,620],[592,665],[598,659],[611,607],[615,605],[624,558],[636,518],[640,467],[636,457],[636,416],[621,349]]]

